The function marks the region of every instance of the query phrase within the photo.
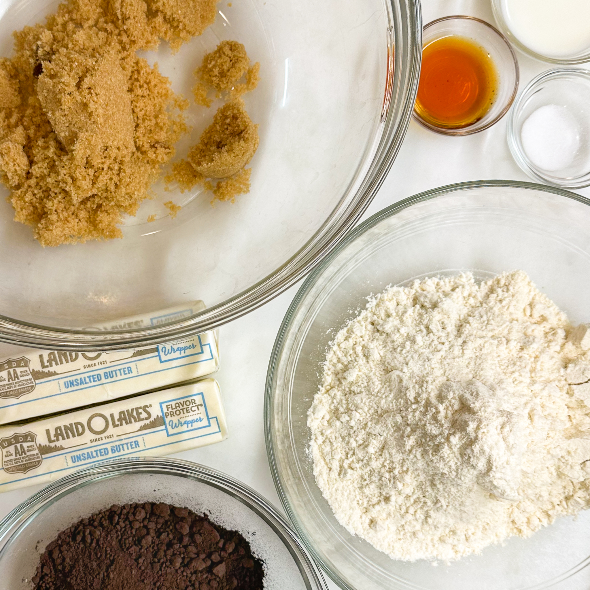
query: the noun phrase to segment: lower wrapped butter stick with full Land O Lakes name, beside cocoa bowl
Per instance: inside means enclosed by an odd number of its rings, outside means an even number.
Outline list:
[[[214,379],[9,424],[0,427],[0,491],[48,483],[99,461],[168,455],[225,437]]]

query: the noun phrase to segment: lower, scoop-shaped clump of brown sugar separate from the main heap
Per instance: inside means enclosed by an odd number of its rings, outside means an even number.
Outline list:
[[[219,107],[201,140],[188,153],[193,168],[205,178],[227,178],[239,172],[258,148],[258,125],[241,99]]]

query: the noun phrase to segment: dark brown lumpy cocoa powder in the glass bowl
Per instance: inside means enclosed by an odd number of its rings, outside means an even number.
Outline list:
[[[47,545],[36,590],[262,590],[263,562],[235,530],[187,508],[124,504]]]

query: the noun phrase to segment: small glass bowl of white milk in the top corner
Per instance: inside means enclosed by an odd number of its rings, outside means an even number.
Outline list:
[[[521,51],[555,64],[590,60],[590,0],[491,0],[498,28]]]

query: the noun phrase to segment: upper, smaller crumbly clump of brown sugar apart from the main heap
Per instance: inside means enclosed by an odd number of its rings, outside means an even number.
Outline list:
[[[231,99],[254,90],[260,81],[260,64],[250,67],[250,58],[238,41],[221,41],[215,51],[205,55],[195,77],[199,80],[193,89],[195,102],[209,107],[213,101],[207,96],[209,88],[217,91],[217,98],[227,92]],[[242,77],[245,81],[238,83]]]

